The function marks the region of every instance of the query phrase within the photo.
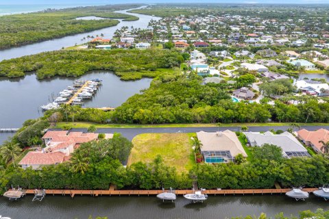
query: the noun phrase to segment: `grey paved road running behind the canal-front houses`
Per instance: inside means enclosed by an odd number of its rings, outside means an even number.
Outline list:
[[[248,131],[269,131],[269,129],[278,130],[281,129],[286,131],[288,126],[281,127],[271,127],[271,126],[263,126],[263,127],[249,127]],[[308,126],[301,127],[308,129],[310,131],[326,128],[329,129],[328,126]],[[97,129],[97,133],[121,133],[125,138],[132,140],[135,136],[141,133],[192,133],[197,131],[224,131],[226,129],[230,129],[231,131],[239,131],[239,127],[188,127],[188,128],[107,128],[107,129]],[[71,131],[87,131],[87,129],[72,129]]]

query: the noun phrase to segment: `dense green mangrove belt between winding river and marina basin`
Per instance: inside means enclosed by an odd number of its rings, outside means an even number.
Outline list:
[[[184,58],[177,51],[160,49],[88,51],[52,51],[27,55],[0,62],[0,76],[23,77],[36,71],[38,79],[60,76],[81,76],[89,70],[112,70],[121,79],[141,79],[170,75],[172,70],[158,72],[158,68],[179,66]]]

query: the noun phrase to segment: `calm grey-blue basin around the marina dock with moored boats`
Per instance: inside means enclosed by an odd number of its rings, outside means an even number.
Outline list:
[[[92,99],[84,101],[84,107],[118,107],[130,96],[149,88],[151,83],[149,78],[121,81],[110,71],[104,70],[93,70],[79,77],[96,78],[103,80],[103,85]],[[51,96],[57,96],[60,91],[72,85],[75,79],[54,77],[39,81],[34,74],[19,79],[0,79],[0,127],[19,128],[25,120],[42,116],[40,105],[51,103]]]

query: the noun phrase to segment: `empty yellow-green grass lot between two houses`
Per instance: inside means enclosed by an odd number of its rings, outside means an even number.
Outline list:
[[[191,136],[194,133],[144,133],[136,136],[127,165],[151,162],[161,155],[164,163],[187,172],[195,165]]]

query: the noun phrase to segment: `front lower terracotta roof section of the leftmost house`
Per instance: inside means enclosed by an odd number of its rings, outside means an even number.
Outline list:
[[[49,165],[60,164],[64,161],[65,154],[62,152],[42,153],[40,151],[29,151],[23,157],[20,165]]]

